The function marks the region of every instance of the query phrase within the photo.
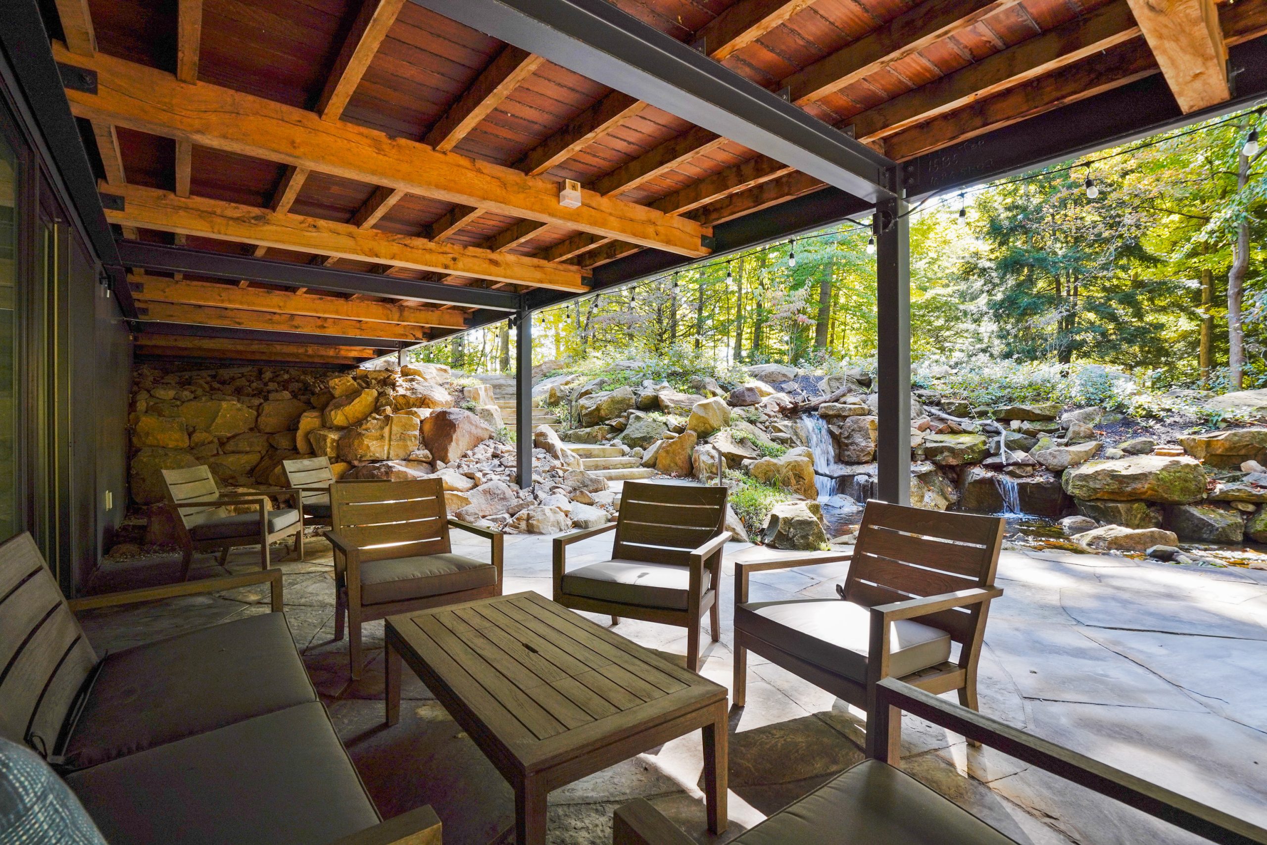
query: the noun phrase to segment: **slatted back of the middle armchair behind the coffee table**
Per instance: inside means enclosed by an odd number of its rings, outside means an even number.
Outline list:
[[[626,481],[612,557],[687,565],[726,527],[723,486]]]

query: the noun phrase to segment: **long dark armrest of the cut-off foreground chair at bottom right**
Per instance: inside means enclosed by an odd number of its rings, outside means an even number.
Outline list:
[[[901,718],[889,708],[903,711],[1211,841],[1229,845],[1267,842],[1267,830],[1257,825],[998,720],[982,716],[967,707],[940,699],[896,678],[886,678],[877,684],[877,702],[881,707],[867,717],[868,731],[872,730],[873,722],[875,730],[884,731],[888,720]],[[883,744],[877,744],[877,747],[883,751]],[[873,756],[884,759],[881,755]]]

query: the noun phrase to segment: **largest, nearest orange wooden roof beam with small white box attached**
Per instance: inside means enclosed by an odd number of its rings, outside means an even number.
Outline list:
[[[400,189],[454,204],[618,237],[631,243],[699,257],[708,253],[698,223],[654,209],[583,195],[579,208],[559,204],[559,185],[381,132],[98,53],[72,56],[54,44],[58,61],[98,71],[98,94],[67,90],[71,110],[139,132],[309,167],[343,179]]]

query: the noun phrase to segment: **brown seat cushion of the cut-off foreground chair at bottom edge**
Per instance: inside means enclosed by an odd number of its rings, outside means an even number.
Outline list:
[[[886,763],[863,760],[735,845],[1005,845],[1016,840]]]

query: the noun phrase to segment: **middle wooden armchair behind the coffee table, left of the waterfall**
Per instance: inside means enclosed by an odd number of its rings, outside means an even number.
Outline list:
[[[701,617],[721,639],[717,583],[730,540],[723,486],[626,481],[614,524],[555,537],[554,600],[574,611],[609,613],[687,628],[687,668],[699,670]],[[568,546],[616,530],[612,557],[568,571]]]

